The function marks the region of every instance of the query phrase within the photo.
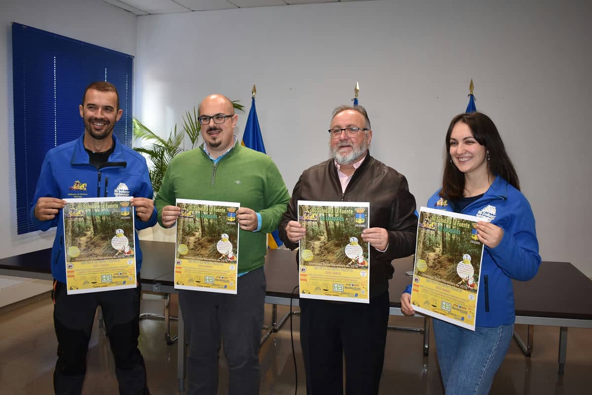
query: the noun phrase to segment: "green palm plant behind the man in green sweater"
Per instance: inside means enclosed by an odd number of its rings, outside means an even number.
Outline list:
[[[236,110],[244,113],[244,105],[239,104],[238,100],[232,102]],[[185,136],[189,137],[191,147],[194,149],[200,139],[201,124],[197,120],[197,111],[186,111],[183,117],[182,129],[173,127],[166,139],[158,136],[152,130],[148,129],[137,118],[133,118],[134,125],[134,150],[147,156],[149,160],[148,169],[150,172],[150,181],[152,188],[156,192],[160,190],[162,178],[165,176],[166,169],[169,167],[170,160],[179,152],[185,150],[183,142]]]

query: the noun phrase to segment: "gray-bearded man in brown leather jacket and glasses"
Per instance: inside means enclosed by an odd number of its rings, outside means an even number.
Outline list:
[[[391,260],[415,250],[415,198],[406,178],[372,158],[370,120],[365,108],[342,105],[333,111],[329,129],[332,158],[300,176],[279,224],[282,241],[298,247],[304,227],[298,223],[298,200],[370,203],[370,227],[361,237],[370,243],[370,303],[300,299],[302,344],[308,395],[378,394],[389,313]]]

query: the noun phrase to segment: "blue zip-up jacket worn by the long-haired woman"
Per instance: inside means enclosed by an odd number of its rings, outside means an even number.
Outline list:
[[[439,192],[430,197],[427,207],[454,211],[454,203],[443,202]],[[511,280],[530,280],[535,277],[540,265],[535,217],[530,204],[522,192],[497,176],[487,192],[466,206],[462,214],[489,219],[504,230],[496,248],[485,246],[484,249],[475,325],[496,327],[512,324],[516,316]],[[411,285],[405,292],[411,293]]]

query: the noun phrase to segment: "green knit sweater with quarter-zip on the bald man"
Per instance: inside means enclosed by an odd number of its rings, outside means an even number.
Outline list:
[[[236,201],[261,214],[259,232],[239,228],[239,274],[265,263],[266,233],[277,229],[289,201],[288,189],[275,163],[264,153],[235,143],[217,164],[198,149],[179,153],[171,160],[156,195],[158,221],[162,208],[175,200]]]

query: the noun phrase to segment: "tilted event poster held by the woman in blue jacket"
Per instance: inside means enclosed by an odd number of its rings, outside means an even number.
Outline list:
[[[417,224],[411,304],[419,313],[475,330],[482,218],[422,207]]]

